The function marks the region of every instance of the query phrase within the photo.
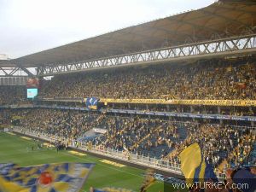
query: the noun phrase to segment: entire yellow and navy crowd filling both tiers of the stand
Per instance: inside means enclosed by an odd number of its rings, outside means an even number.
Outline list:
[[[201,61],[194,64],[125,67],[55,76],[42,81],[40,98],[115,99],[204,99],[256,100],[256,65],[252,61]],[[0,106],[24,102],[26,88],[0,86]],[[25,101],[26,102],[26,101]],[[111,107],[108,107],[111,108]],[[117,108],[137,109],[119,105]],[[171,111],[179,108],[153,106],[144,110]],[[199,106],[193,113],[255,116],[255,108]],[[191,108],[187,112],[190,112]],[[213,112],[212,112],[213,111]],[[0,119],[49,137],[90,142],[103,148],[128,150],[179,164],[178,154],[191,143],[201,145],[203,155],[219,172],[227,167],[255,165],[255,129],[204,120],[173,120],[157,116],[120,115],[61,109],[0,109]],[[93,128],[106,132],[88,137]]]

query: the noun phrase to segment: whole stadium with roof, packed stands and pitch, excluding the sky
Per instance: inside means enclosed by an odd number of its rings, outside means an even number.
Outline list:
[[[255,1],[0,58],[0,191],[201,191],[241,170],[249,189],[214,191],[255,191]],[[65,163],[90,174],[63,187],[59,166],[38,172]]]

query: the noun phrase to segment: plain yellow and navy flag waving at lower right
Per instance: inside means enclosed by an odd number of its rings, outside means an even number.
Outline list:
[[[208,164],[201,154],[198,143],[191,144],[179,155],[181,170],[187,183],[204,182],[209,179],[217,180],[212,165]]]

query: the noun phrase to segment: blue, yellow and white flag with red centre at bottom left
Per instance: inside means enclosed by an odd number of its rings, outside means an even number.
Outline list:
[[[1,192],[78,192],[94,164],[59,163],[0,166]]]

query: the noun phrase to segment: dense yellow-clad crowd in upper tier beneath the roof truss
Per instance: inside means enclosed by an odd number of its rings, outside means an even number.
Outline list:
[[[65,74],[44,83],[40,96],[255,100],[256,65],[206,61]]]

